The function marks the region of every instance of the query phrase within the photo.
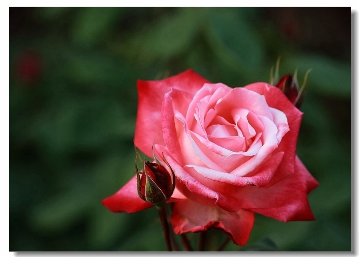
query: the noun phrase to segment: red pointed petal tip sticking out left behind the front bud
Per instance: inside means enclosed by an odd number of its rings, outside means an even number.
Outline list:
[[[128,181],[115,194],[102,200],[111,212],[139,212],[153,205],[142,200],[137,193],[136,176]]]

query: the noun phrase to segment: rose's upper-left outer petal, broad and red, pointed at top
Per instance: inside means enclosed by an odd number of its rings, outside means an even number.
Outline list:
[[[158,81],[137,81],[138,109],[135,128],[135,145],[152,157],[153,141],[164,144],[161,129],[161,106],[164,94],[171,88],[192,96],[208,81],[191,69],[176,76]]]

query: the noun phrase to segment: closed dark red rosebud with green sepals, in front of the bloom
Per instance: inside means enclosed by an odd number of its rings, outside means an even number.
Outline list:
[[[155,160],[159,162],[157,157],[155,157]],[[140,175],[137,165],[135,164],[137,174],[137,193],[141,199],[156,206],[163,205],[166,200],[171,197],[175,188],[173,170],[166,160],[165,162],[171,170],[172,178],[163,165],[153,162],[150,163],[149,161],[144,160],[143,172]]]

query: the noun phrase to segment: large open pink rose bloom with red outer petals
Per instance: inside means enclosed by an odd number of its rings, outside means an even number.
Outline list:
[[[303,113],[280,89],[230,88],[192,70],[137,88],[135,145],[153,158],[154,143],[174,171],[174,232],[219,228],[244,245],[255,213],[314,219],[307,194],[318,183],[295,154]],[[138,196],[136,176],[102,203],[127,213],[153,206]]]

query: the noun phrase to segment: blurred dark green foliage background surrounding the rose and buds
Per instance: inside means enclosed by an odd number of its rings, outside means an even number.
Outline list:
[[[308,77],[298,155],[312,222],[256,215],[245,247],[350,251],[350,8],[9,8],[10,251],[164,251],[155,209],[101,200],[134,175],[137,79]],[[150,126],[150,125],[149,125]],[[189,234],[193,243],[198,234]],[[215,250],[224,234],[211,229]],[[178,238],[179,239],[179,238]]]

